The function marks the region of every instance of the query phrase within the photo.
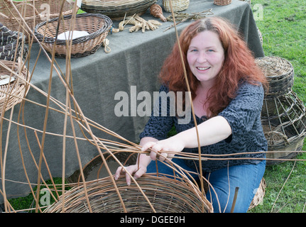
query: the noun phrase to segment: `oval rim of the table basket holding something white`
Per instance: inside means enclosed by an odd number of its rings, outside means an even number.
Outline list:
[[[112,25],[111,19],[108,16],[105,16],[103,14],[99,14],[99,13],[79,13],[76,16],[79,17],[79,18],[87,17],[87,16],[102,18],[102,19],[104,19],[105,23],[104,23],[104,26],[102,28],[99,28],[94,33],[89,33],[89,35],[72,39],[72,45],[76,44],[76,43],[83,43],[83,42],[86,42],[87,40],[91,40],[93,38],[97,38],[99,35],[101,35],[105,31],[108,31],[108,29]],[[63,16],[63,18],[64,18],[64,20],[65,19],[71,19],[72,15]],[[41,23],[38,23],[38,25],[35,26],[35,36],[38,38],[38,40],[43,40],[43,38],[44,38],[44,42],[45,43],[55,43],[56,38],[47,37],[47,36],[43,37],[43,35],[38,33],[37,30],[41,26],[45,26],[45,24],[47,22],[48,22],[48,24],[50,24],[51,22],[55,22],[55,21],[58,21],[58,20],[59,20],[59,18],[57,17],[57,18],[52,18],[52,19],[50,19],[48,21],[43,21]],[[66,45],[66,40],[56,40],[56,44],[57,45]]]

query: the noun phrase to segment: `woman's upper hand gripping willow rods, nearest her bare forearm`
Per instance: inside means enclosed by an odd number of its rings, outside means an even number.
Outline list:
[[[166,158],[171,160],[175,153],[181,152],[185,148],[182,140],[176,140],[174,137],[168,138],[165,140],[158,140],[155,142],[148,142],[143,145],[141,148],[142,151],[151,150],[150,157],[152,160],[156,160],[158,157],[159,160],[163,161]],[[174,152],[174,153],[167,153]]]

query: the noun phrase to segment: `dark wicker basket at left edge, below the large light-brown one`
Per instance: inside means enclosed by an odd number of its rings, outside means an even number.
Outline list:
[[[0,23],[0,60],[17,61],[18,57],[26,59],[28,47],[23,45],[25,37],[22,33],[9,30]]]

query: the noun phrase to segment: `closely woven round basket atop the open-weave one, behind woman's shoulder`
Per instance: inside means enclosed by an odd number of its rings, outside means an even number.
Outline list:
[[[267,97],[287,94],[293,87],[294,69],[288,60],[281,57],[262,57],[256,59],[269,82]]]

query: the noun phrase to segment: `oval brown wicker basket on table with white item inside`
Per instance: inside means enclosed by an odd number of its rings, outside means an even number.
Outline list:
[[[35,35],[45,44],[45,49],[52,53],[55,48],[55,56],[66,57],[67,43],[66,40],[57,40],[55,45],[55,38],[57,34],[69,31],[72,15],[64,16],[60,20],[60,28],[58,29],[58,18],[50,19],[39,23],[35,27]],[[64,22],[63,22],[64,21]],[[74,31],[86,31],[89,35],[85,35],[72,40],[71,57],[84,57],[96,52],[103,44],[106,38],[112,21],[109,17],[102,14],[94,13],[80,13],[75,18]],[[45,35],[45,37],[44,37]]]

